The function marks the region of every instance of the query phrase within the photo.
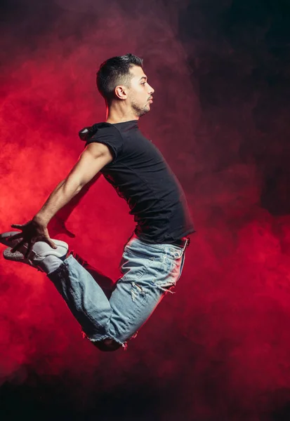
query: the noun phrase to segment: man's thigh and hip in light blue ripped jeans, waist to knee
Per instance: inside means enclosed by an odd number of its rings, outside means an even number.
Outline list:
[[[145,323],[164,295],[176,285],[185,255],[169,245],[148,245],[139,240],[124,248],[117,281],[110,299],[112,335],[131,338]]]

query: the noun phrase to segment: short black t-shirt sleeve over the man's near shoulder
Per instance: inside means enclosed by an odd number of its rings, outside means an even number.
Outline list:
[[[121,133],[119,133],[118,129],[112,125],[98,127],[96,133],[87,140],[86,146],[93,142],[103,143],[109,147],[113,156],[112,163],[117,160],[123,149],[123,138]]]

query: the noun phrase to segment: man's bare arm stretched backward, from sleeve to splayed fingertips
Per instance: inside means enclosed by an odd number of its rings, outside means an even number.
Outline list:
[[[34,218],[25,225],[11,225],[13,228],[22,230],[21,233],[11,237],[11,239],[22,239],[12,251],[18,250],[23,243],[28,243],[27,255],[29,255],[36,241],[46,241],[51,247],[56,248],[48,234],[48,222],[112,159],[113,156],[106,145],[97,142],[90,143],[79,156],[79,160],[67,178],[55,187]]]

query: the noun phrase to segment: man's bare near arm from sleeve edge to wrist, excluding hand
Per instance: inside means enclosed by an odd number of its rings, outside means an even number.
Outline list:
[[[90,143],[82,152],[79,161],[74,165],[67,178],[62,180],[53,190],[33,220],[47,226],[55,213],[69,203],[81,191],[82,187],[90,182],[112,159],[110,149],[106,145],[97,142]]]

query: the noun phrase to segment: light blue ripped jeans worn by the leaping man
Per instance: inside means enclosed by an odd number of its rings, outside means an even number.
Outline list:
[[[145,243],[133,234],[119,265],[122,276],[112,282],[110,295],[98,282],[98,271],[86,270],[72,255],[48,277],[86,338],[91,342],[111,338],[126,349],[126,341],[136,335],[164,295],[172,293],[183,270],[186,246]],[[101,272],[100,277],[106,278]]]

